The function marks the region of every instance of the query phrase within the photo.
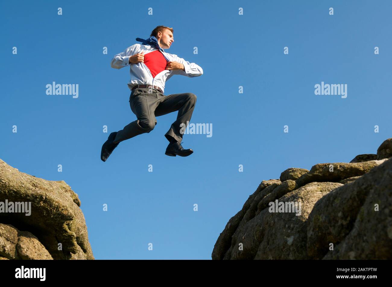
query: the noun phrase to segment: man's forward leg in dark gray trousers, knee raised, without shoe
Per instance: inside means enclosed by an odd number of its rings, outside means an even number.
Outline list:
[[[162,95],[162,93],[160,94]],[[174,139],[181,143],[183,135],[180,133],[180,124],[184,124],[183,127],[185,128],[187,121],[191,120],[196,100],[196,95],[192,93],[171,94],[160,97],[160,103],[155,109],[155,116],[162,116],[163,114],[178,111],[177,120],[165,134],[169,142]]]

